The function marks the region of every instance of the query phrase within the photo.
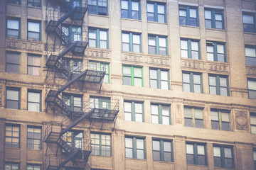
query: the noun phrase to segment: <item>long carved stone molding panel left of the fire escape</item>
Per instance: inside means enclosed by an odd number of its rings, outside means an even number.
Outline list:
[[[24,40],[9,40],[6,39],[6,49],[12,50],[27,50],[32,52],[43,52],[43,43],[28,42]]]

